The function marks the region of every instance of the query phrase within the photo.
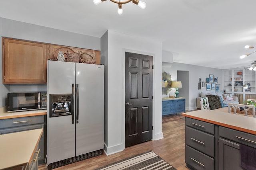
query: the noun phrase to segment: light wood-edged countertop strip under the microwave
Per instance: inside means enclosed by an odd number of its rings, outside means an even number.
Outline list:
[[[38,116],[38,115],[46,115],[46,114],[47,114],[47,109],[7,112],[6,106],[0,108],[0,119],[10,119],[10,118],[17,118],[17,117]]]

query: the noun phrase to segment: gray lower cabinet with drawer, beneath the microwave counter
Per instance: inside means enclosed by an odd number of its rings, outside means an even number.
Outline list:
[[[45,116],[38,115],[0,120],[0,135],[41,128],[43,129],[43,134],[38,143],[38,149],[40,149],[40,152],[38,154],[37,161],[39,161],[39,164],[44,163],[45,160]]]

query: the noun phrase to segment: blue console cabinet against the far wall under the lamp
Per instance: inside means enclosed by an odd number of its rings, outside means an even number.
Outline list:
[[[170,98],[162,100],[162,115],[185,112],[185,98]]]

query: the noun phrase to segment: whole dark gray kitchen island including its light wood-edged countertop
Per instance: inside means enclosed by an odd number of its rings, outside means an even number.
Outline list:
[[[183,115],[185,162],[192,170],[242,170],[240,145],[256,150],[256,118],[214,110]]]

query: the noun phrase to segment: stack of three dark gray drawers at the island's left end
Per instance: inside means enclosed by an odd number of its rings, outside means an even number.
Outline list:
[[[214,125],[186,117],[185,162],[192,170],[214,170]]]

